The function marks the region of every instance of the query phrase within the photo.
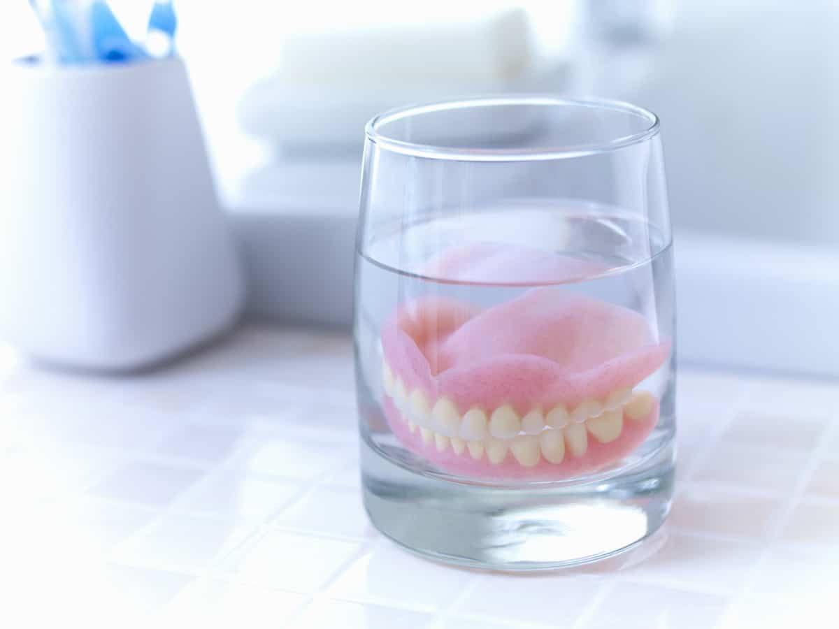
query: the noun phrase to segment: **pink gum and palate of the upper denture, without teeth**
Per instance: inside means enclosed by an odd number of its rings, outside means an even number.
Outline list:
[[[602,408],[585,405],[608,406],[669,352],[641,314],[560,287],[531,289],[489,309],[420,298],[384,326],[382,342],[407,391],[420,390],[431,403],[448,398],[461,414],[508,405],[518,418],[534,407],[547,417],[558,404],[597,415]],[[513,430],[505,421],[502,413],[502,433]]]

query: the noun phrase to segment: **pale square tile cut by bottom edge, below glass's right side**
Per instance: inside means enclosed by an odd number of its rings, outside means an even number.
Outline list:
[[[582,626],[585,629],[710,629],[717,626],[727,602],[723,596],[618,583]]]

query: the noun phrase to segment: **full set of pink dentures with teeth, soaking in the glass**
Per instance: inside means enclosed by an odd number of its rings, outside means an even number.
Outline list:
[[[482,244],[429,268],[461,281],[512,269],[545,282],[596,265]],[[559,480],[623,459],[659,418],[658,400],[635,387],[670,354],[641,314],[560,286],[487,309],[410,300],[383,325],[382,345],[393,434],[444,470],[490,479]]]

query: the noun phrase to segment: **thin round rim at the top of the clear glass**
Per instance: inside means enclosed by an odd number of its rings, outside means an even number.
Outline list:
[[[538,148],[467,148],[414,143],[388,138],[379,128],[389,122],[425,113],[446,112],[469,107],[498,107],[535,105],[540,107],[581,107],[633,114],[647,121],[647,127],[637,133],[612,138],[602,142],[555,145]],[[659,134],[659,117],[649,109],[626,101],[608,98],[563,98],[546,94],[519,96],[471,96],[447,101],[431,101],[396,107],[374,116],[364,127],[367,140],[393,153],[426,159],[448,159],[466,162],[519,162],[550,159],[567,159],[608,153],[618,148],[645,142]]]

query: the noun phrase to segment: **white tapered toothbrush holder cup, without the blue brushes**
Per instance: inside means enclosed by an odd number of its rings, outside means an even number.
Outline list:
[[[244,283],[183,63],[7,67],[0,337],[96,370],[232,325]]]

